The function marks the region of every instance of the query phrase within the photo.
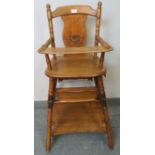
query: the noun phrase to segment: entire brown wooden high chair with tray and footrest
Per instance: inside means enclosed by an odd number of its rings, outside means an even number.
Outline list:
[[[95,10],[90,6],[71,5],[58,7],[52,12],[47,4],[50,38],[38,50],[45,55],[45,74],[49,77],[46,151],[51,150],[52,136],[75,132],[104,132],[109,147],[113,147],[102,79],[106,75],[104,55],[112,48],[99,35],[101,6],[99,2]],[[95,43],[92,47],[85,46],[87,16],[96,18]],[[56,17],[61,17],[64,23],[64,48],[55,46],[52,20]],[[92,80],[95,86],[56,87],[58,81],[68,79]]]

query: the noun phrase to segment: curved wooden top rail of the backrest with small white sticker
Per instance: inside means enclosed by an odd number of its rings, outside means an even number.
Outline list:
[[[70,5],[70,6],[58,7],[56,10],[53,11],[52,17],[55,18],[55,17],[66,16],[70,14],[96,16],[96,10],[94,10],[90,6]]]

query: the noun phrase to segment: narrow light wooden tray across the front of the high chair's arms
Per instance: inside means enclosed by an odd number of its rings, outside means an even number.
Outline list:
[[[44,48],[46,47],[46,48]],[[103,53],[110,52],[112,48],[105,47],[66,47],[66,48],[47,48],[47,46],[43,46],[39,53],[41,54],[55,54],[55,55],[63,55],[63,54],[85,54],[85,53]]]

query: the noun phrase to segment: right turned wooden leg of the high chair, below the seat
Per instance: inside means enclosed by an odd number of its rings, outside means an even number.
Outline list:
[[[100,91],[100,100],[103,105],[103,112],[104,112],[104,116],[105,116],[108,145],[109,145],[109,148],[112,149],[113,148],[113,140],[112,140],[111,126],[110,126],[110,122],[109,122],[109,114],[108,114],[106,95],[105,95],[102,77],[98,77],[98,87],[99,87],[99,91]]]

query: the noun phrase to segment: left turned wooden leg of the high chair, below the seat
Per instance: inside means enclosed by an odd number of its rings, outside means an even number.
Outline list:
[[[54,89],[56,80],[49,80],[48,91],[48,114],[47,114],[47,133],[46,133],[46,151],[51,150],[51,136],[52,136],[52,114],[53,114],[53,102],[54,102]]]

